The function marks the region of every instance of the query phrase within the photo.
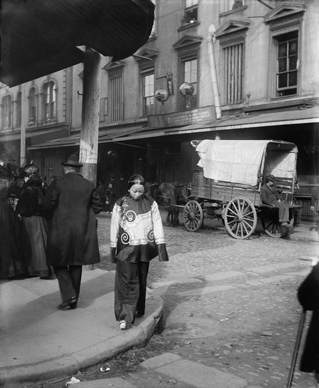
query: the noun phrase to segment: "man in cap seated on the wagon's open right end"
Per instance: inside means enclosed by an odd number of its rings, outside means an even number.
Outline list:
[[[280,194],[274,187],[275,177],[267,175],[266,182],[261,187],[261,199],[263,203],[269,206],[278,207],[279,209],[279,223],[282,226],[288,226],[289,223],[289,207],[284,203]]]

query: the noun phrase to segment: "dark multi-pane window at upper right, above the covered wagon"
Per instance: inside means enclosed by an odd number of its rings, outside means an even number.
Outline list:
[[[297,94],[298,31],[275,36],[277,40],[277,97]]]

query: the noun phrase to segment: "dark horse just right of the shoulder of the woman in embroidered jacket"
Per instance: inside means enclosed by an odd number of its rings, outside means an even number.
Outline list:
[[[157,194],[157,202],[161,207],[167,210],[166,226],[178,226],[179,208],[175,206],[177,204],[177,191],[170,183],[162,183],[159,186]]]

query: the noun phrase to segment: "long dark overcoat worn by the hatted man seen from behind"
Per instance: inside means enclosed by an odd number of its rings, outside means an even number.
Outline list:
[[[76,172],[48,187],[42,211],[48,222],[47,265],[87,265],[100,261],[95,214],[103,208],[92,182]]]

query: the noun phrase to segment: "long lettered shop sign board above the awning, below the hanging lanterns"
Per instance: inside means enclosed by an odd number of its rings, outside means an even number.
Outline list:
[[[215,120],[215,109],[213,105],[204,108],[188,109],[174,113],[163,113],[161,115],[148,116],[149,128],[178,127],[188,124],[204,123]]]

